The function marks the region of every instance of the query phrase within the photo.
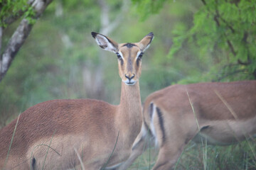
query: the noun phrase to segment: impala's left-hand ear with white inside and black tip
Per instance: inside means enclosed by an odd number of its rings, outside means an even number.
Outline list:
[[[111,40],[110,38],[107,38],[105,35],[95,32],[92,32],[92,37],[95,38],[97,45],[102,47],[102,49],[114,53],[118,52],[118,44],[117,42],[114,42],[114,40]]]

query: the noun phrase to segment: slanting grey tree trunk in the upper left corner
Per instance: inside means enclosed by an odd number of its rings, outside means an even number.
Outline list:
[[[32,18],[38,19],[52,1],[53,0],[29,0],[28,4],[31,4],[36,12],[36,15]],[[25,42],[32,28],[33,25],[28,23],[26,18],[23,18],[14,34],[11,36],[11,39],[9,40],[9,43],[0,59],[0,82],[4,78],[6,72],[11,66],[11,62],[14,60],[14,57]]]

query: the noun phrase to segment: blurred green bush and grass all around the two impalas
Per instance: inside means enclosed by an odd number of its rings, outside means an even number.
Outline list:
[[[91,31],[117,42],[154,33],[143,57],[142,102],[171,84],[256,79],[254,1],[54,0],[39,13],[27,2],[0,1],[0,61],[24,18],[31,29],[1,77],[0,127],[52,99],[119,102],[117,58],[98,49]],[[256,169],[255,147],[255,141],[229,147],[191,142],[176,169]],[[154,148],[147,150],[130,169],[149,169],[154,156]]]

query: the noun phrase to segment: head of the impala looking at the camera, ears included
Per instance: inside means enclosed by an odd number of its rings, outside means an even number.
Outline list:
[[[97,44],[104,50],[114,52],[118,58],[119,76],[127,85],[134,85],[141,75],[142,55],[154,38],[149,33],[141,41],[118,44],[105,35],[92,32]]]

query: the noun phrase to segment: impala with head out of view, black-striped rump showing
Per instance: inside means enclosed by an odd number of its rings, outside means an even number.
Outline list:
[[[256,81],[174,85],[146,98],[142,130],[127,169],[142,154],[147,134],[159,147],[153,169],[171,169],[190,141],[230,145],[256,135]]]

